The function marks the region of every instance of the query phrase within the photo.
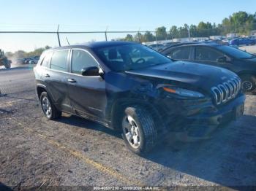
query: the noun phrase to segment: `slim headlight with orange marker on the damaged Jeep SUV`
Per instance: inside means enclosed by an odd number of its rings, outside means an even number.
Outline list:
[[[163,90],[165,90],[168,93],[174,93],[176,95],[181,95],[184,97],[190,97],[190,98],[203,98],[204,95],[202,93],[199,92],[195,92],[192,90],[186,90],[186,89],[182,89],[179,87],[162,87]]]

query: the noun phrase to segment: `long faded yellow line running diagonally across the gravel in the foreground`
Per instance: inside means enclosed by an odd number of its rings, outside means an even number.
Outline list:
[[[14,119],[12,118],[12,120],[14,120]],[[136,185],[136,186],[143,187],[143,185],[144,185],[143,183],[141,183],[137,180],[131,180],[127,176],[124,176],[123,174],[119,174],[113,168],[105,166],[102,163],[96,162],[95,160],[92,160],[91,158],[86,157],[86,155],[83,155],[83,153],[79,152],[78,150],[68,148],[67,146],[64,146],[63,144],[59,143],[58,141],[48,139],[47,136],[42,135],[41,133],[37,133],[36,130],[33,130],[31,128],[26,128],[25,125],[18,122],[17,120],[14,120],[14,121],[17,122],[18,125],[22,126],[23,130],[25,130],[26,133],[36,134],[37,136],[41,137],[42,139],[45,139],[45,141],[47,141],[49,144],[53,145],[54,147],[57,147],[58,149],[61,149],[64,152],[69,152],[69,154],[71,154],[75,157],[78,157],[80,160],[83,160],[84,163],[89,164],[89,165],[93,166],[94,168],[97,168],[97,170],[99,170],[105,174],[110,174],[111,176],[115,177],[118,180],[121,180],[121,182],[124,182],[128,185]]]

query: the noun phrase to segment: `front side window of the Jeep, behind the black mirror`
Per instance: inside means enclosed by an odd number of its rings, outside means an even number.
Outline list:
[[[72,51],[72,73],[82,74],[82,69],[90,66],[98,66],[98,63],[94,60],[94,58],[91,57],[91,55],[89,55],[88,52],[85,52],[83,50]]]

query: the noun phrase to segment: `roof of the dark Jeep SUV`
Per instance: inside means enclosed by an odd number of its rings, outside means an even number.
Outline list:
[[[137,44],[135,42],[124,42],[124,41],[103,41],[103,42],[89,42],[84,44],[75,44],[64,47],[56,47],[53,50],[61,50],[67,48],[75,48],[75,47],[86,47],[86,48],[97,48],[97,47],[111,47],[111,46],[121,46],[127,44]]]

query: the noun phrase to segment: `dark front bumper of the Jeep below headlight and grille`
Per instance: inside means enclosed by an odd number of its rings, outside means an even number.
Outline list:
[[[173,122],[169,123],[172,132],[181,133],[187,132],[188,136],[204,137],[208,136],[213,130],[223,123],[228,123],[236,120],[244,113],[245,95],[240,94],[235,99],[229,101],[223,106],[213,106],[209,104],[186,106],[186,113],[178,115]],[[207,106],[207,107],[201,107]],[[189,114],[195,111],[196,114]],[[214,109],[206,109],[214,108]]]

